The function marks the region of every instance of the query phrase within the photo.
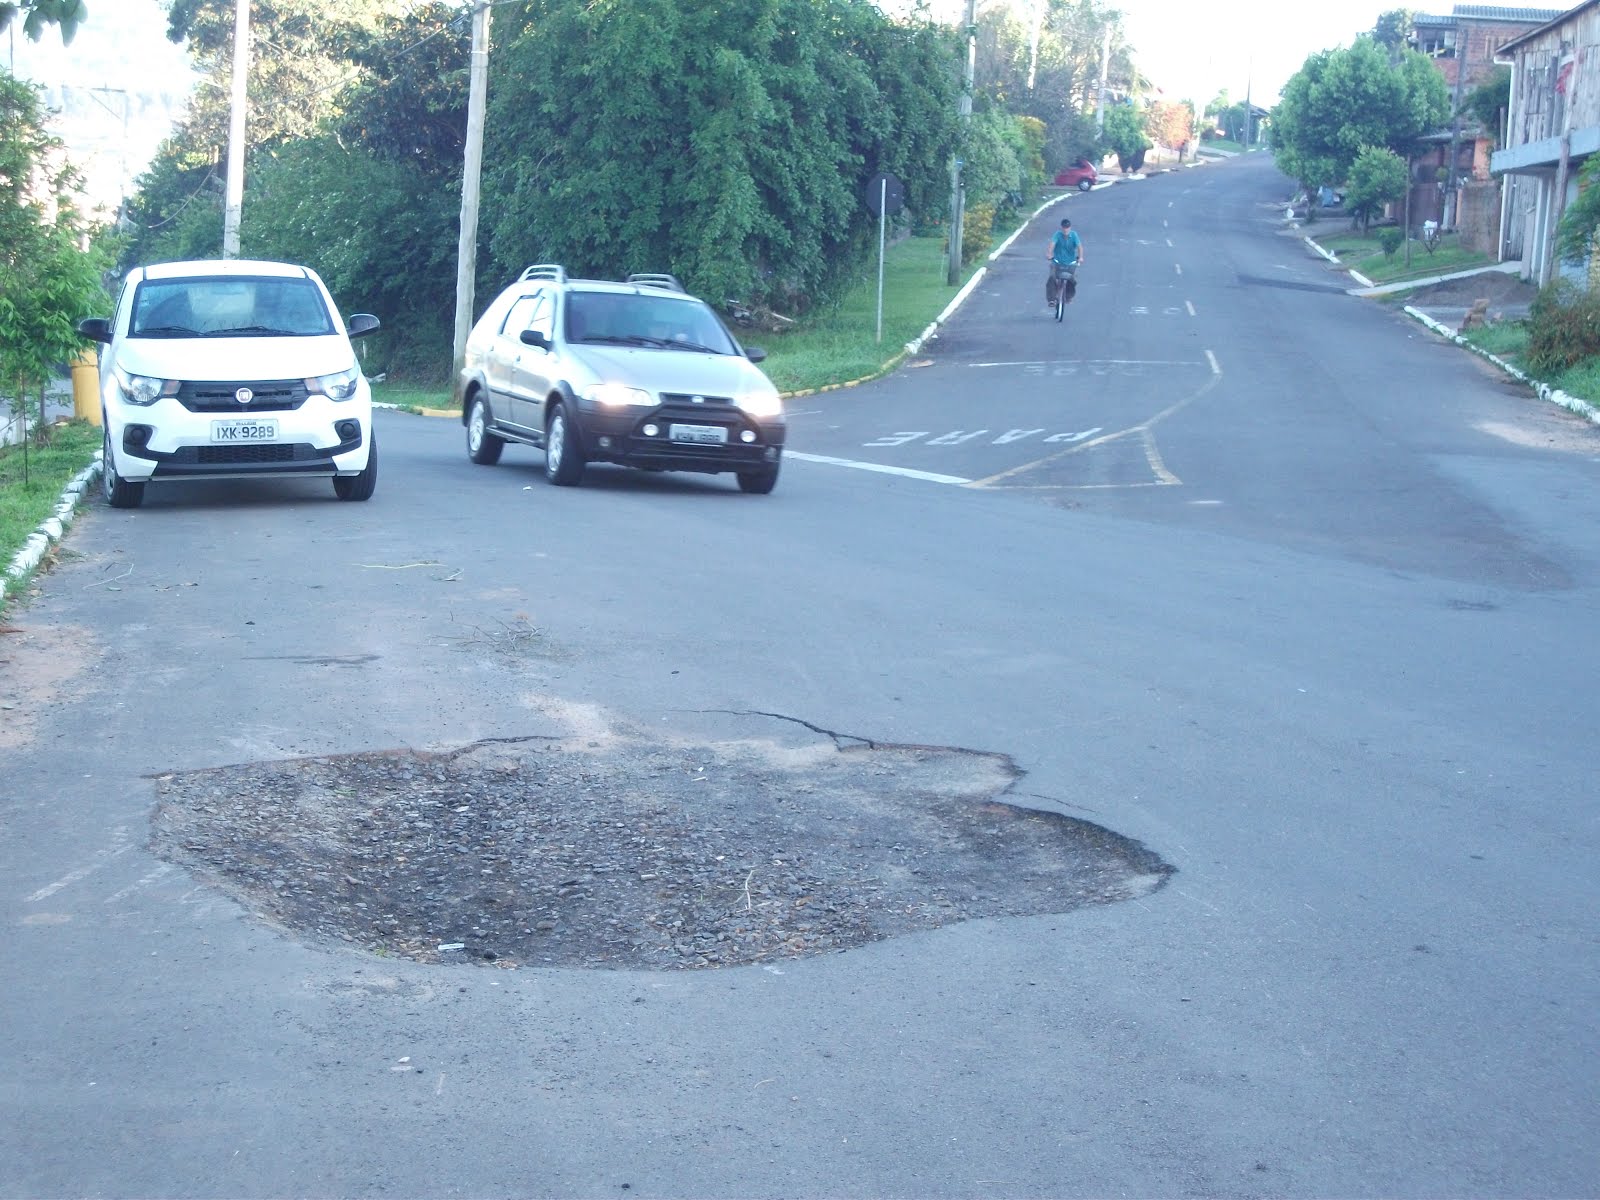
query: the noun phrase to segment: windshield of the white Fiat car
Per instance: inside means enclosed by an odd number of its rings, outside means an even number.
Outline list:
[[[315,338],[333,318],[309,278],[200,277],[146,280],[133,301],[131,338]]]

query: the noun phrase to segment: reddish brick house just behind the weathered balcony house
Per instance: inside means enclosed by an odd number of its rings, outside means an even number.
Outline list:
[[[1448,128],[1424,139],[1411,162],[1413,224],[1437,221],[1443,229],[1458,229],[1467,246],[1502,250],[1501,187],[1490,174],[1499,130],[1482,128],[1461,112],[1461,104],[1494,77],[1502,46],[1560,14],[1558,8],[1454,5],[1448,16],[1419,13],[1411,19],[1410,45],[1434,59],[1450,86],[1454,114]]]

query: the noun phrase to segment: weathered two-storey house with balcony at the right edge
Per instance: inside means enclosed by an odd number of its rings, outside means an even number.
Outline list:
[[[1501,202],[1501,259],[1518,258],[1507,253],[1515,235],[1525,280],[1582,277],[1557,261],[1555,229],[1578,195],[1578,168],[1600,152],[1600,0],[1507,42],[1499,59],[1512,69],[1510,115],[1490,170],[1515,182]]]

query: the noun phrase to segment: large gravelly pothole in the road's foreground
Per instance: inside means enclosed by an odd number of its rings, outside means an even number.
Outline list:
[[[1160,886],[1136,842],[922,746],[480,742],[165,776],[155,851],[299,934],[422,962],[678,970]]]

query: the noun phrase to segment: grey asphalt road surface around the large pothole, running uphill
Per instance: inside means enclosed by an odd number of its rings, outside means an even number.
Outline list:
[[[768,498],[474,467],[96,506],[0,640],[3,1195],[1600,1194],[1600,430],[1342,280],[1264,158],[1074,195]],[[1003,754],[1139,899],[782,965],[272,928],[174,771],[483,738]],[[771,797],[754,794],[750,805]]]

